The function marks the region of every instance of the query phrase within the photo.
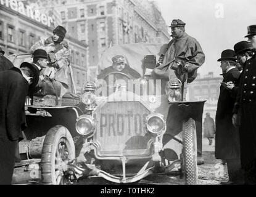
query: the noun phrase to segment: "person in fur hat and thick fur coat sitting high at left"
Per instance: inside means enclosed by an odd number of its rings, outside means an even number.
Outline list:
[[[68,92],[68,73],[71,50],[68,47],[67,41],[64,40],[67,30],[63,26],[57,26],[53,31],[53,36],[47,39],[41,39],[31,47],[31,54],[36,49],[44,49],[49,56],[49,66],[55,70],[54,80],[60,82],[59,97],[62,97]],[[48,74],[52,74],[51,70],[47,69]],[[47,74],[46,74],[47,75]]]

